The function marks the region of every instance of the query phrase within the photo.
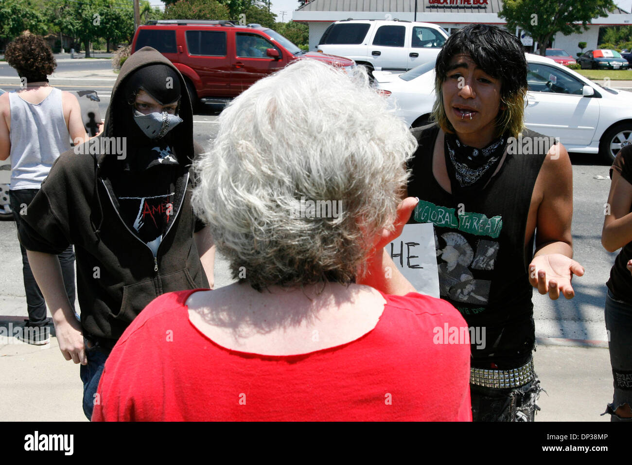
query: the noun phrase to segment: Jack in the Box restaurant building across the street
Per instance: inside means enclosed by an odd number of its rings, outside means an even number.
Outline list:
[[[590,0],[585,0],[590,1]],[[506,27],[499,18],[501,0],[416,0],[416,21],[434,23],[448,33],[470,23],[493,24]],[[534,11],[537,13],[537,11]],[[415,20],[415,0],[310,0],[293,11],[292,20],[305,22],[310,28],[310,50],[319,43],[325,29],[333,22],[354,20]],[[552,40],[552,48],[564,49],[572,56],[580,52],[579,42],[588,44],[584,51],[597,48],[599,28],[632,24],[632,15],[620,8],[608,16],[595,18],[588,30],[580,34],[563,35],[558,32]],[[521,30],[513,31],[527,51],[537,49],[537,44]]]

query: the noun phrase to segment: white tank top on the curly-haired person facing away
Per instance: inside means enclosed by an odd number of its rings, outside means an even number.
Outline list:
[[[40,189],[52,163],[70,150],[70,134],[61,106],[61,90],[52,89],[38,104],[9,92],[11,106],[11,187]]]

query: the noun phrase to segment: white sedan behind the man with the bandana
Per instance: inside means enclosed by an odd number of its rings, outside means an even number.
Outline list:
[[[612,163],[632,143],[632,92],[602,87],[552,59],[525,54],[529,86],[525,125],[559,137],[569,152],[599,154]],[[434,63],[403,74],[375,71],[376,89],[411,127],[430,121]]]

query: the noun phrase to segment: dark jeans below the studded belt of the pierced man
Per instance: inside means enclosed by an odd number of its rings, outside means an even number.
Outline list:
[[[472,421],[535,421],[540,410],[538,377],[517,388],[488,388],[470,383]]]

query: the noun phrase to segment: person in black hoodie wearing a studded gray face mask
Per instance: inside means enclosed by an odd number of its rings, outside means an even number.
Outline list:
[[[28,206],[20,242],[51,309],[59,349],[82,364],[88,419],[107,355],[138,313],[166,292],[213,285],[214,244],[190,206],[193,156],[183,77],[143,47],[121,68],[103,133],[61,154]],[[55,256],[69,244],[81,321]]]

